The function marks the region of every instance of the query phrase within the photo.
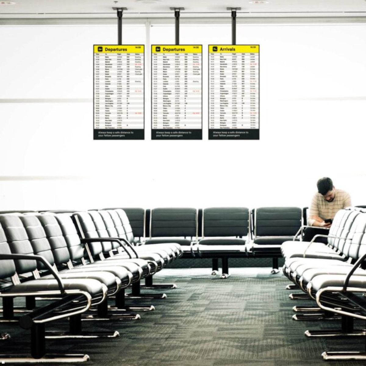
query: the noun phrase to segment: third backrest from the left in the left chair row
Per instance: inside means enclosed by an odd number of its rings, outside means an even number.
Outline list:
[[[41,255],[47,259],[51,265],[53,265],[55,263],[55,259],[53,258],[51,246],[40,220],[38,220],[35,214],[20,215],[19,219],[22,221],[24,228],[26,229],[34,254]],[[37,262],[37,268],[40,270],[45,269],[45,265],[42,262]]]

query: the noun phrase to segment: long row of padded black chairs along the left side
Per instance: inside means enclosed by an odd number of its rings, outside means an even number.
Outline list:
[[[117,330],[85,332],[83,321],[116,326],[140,318],[131,310],[154,310],[128,307],[126,300],[165,298],[141,292],[140,281],[149,283],[182,254],[176,243],[139,245],[123,210],[0,214],[1,324],[31,330],[30,355],[0,355],[0,362],[87,361],[88,355],[47,355],[46,339],[119,336]],[[24,305],[15,306],[15,298],[24,298]],[[69,323],[68,332],[45,329],[62,320]],[[0,339],[6,342],[9,334]]]

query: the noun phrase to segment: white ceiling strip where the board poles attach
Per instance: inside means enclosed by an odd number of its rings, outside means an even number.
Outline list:
[[[173,16],[169,7],[184,7],[181,17],[227,17],[227,7],[241,7],[242,17],[366,16],[365,0],[269,0],[251,4],[248,0],[13,0],[0,5],[0,18],[115,18],[112,7],[127,7],[125,18]]]

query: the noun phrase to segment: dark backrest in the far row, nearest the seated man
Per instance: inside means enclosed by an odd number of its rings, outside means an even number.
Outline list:
[[[301,227],[299,207],[259,207],[254,210],[255,236],[293,236]]]

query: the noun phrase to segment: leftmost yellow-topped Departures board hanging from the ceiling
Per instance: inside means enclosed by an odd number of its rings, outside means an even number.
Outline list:
[[[94,140],[144,139],[144,46],[94,45]]]

